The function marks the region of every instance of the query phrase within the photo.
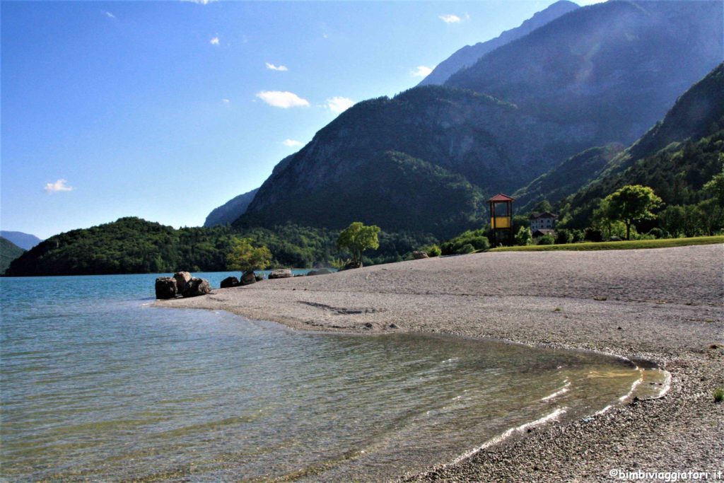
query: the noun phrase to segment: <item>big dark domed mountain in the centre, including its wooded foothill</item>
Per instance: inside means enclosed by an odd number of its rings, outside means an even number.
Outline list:
[[[445,238],[481,219],[480,193],[512,191],[589,143],[490,96],[413,88],[340,114],[277,165],[236,223],[338,229],[360,220]],[[420,216],[438,202],[435,217]]]

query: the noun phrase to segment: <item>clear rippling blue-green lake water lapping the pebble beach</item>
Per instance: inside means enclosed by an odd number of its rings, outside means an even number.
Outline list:
[[[379,481],[641,377],[594,353],[153,308],[155,277],[0,279],[2,476]]]

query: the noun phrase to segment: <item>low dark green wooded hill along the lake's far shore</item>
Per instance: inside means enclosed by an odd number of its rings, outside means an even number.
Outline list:
[[[249,238],[266,245],[272,266],[330,266],[337,257],[339,232],[286,224],[272,229],[230,227],[181,228],[129,217],[88,230],[72,230],[45,240],[15,260],[8,275],[84,275],[161,273],[177,270],[224,271],[232,240]],[[431,235],[412,232],[379,234],[379,249],[366,264],[400,261]]]

